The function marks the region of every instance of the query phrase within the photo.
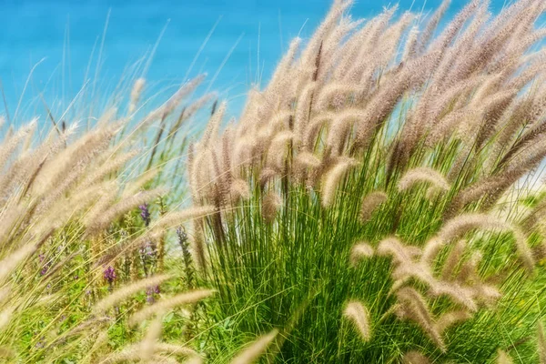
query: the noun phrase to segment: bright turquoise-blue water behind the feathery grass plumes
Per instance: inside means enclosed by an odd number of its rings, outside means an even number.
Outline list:
[[[440,5],[440,0],[428,0],[424,5],[423,1],[402,0],[399,6],[426,13]],[[387,0],[362,0],[351,13],[370,17],[391,4]],[[450,14],[464,4],[453,1]],[[491,4],[492,10],[498,11],[504,1],[493,0]],[[96,93],[106,95],[127,74],[127,67],[152,49],[164,28],[146,75],[148,83],[174,87],[185,76],[206,71],[205,87],[220,90],[232,112],[237,113],[248,87],[259,79],[262,84],[267,81],[289,40],[298,34],[310,35],[330,2],[0,0],[0,5],[0,79],[7,112],[13,116],[24,89],[22,105],[35,106],[33,111],[38,113],[43,112],[36,106],[39,94],[51,107],[66,107],[86,79],[96,79]],[[207,45],[190,69],[213,27]],[[0,114],[5,114],[2,104]]]

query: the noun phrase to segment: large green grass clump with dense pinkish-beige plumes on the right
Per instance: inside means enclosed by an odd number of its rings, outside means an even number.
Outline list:
[[[334,2],[191,147],[194,205],[217,208],[194,239],[219,358],[279,329],[278,362],[538,359],[543,242],[511,198],[544,157],[544,8],[474,1],[440,31],[446,5],[420,29]]]

